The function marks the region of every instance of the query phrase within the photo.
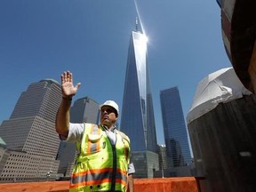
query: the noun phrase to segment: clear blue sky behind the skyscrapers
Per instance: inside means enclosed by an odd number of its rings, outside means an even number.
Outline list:
[[[231,67],[215,0],[137,0],[148,36],[148,68],[157,142],[164,143],[161,90],[178,86],[184,118],[197,84]],[[20,93],[44,78],[60,82],[70,70],[81,82],[76,99],[116,100],[122,108],[129,40],[137,12],[133,0],[0,1],[0,123]],[[122,118],[122,116],[121,116]]]

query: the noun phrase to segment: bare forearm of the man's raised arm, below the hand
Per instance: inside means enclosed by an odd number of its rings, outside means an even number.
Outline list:
[[[69,112],[71,107],[71,100],[62,99],[60,108],[56,115],[55,128],[56,132],[65,137],[68,136],[69,129]]]

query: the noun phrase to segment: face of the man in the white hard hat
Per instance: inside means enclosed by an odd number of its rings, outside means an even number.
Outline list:
[[[117,116],[116,116],[116,109],[109,107],[109,106],[103,106],[100,109],[100,122],[101,124],[104,124],[110,128],[116,123]]]

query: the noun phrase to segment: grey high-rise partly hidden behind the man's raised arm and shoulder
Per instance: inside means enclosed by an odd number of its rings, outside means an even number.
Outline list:
[[[100,104],[89,97],[78,99],[70,109],[70,122],[98,124]],[[76,160],[76,144],[60,141],[57,159],[60,160],[59,173],[69,177]]]

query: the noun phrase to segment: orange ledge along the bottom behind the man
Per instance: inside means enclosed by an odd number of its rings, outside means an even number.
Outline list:
[[[1,192],[68,192],[69,181],[1,183]],[[200,192],[194,177],[134,179],[134,192]]]

